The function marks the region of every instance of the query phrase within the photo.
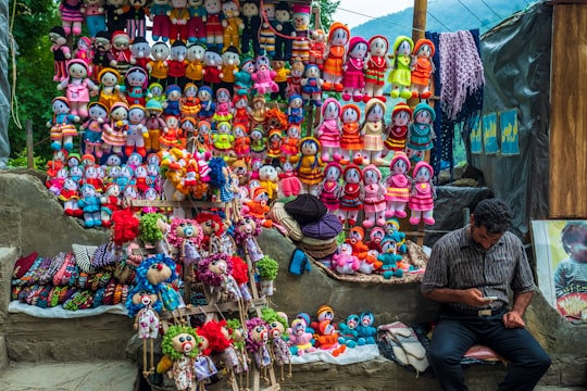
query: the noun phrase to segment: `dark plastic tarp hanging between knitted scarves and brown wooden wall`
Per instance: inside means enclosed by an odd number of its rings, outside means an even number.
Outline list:
[[[529,220],[548,217],[552,7],[535,3],[480,39],[485,68],[483,114],[517,110],[519,155],[469,154],[484,184],[514,212],[528,241]],[[500,130],[497,131],[500,144]],[[470,151],[467,141],[467,150]]]

